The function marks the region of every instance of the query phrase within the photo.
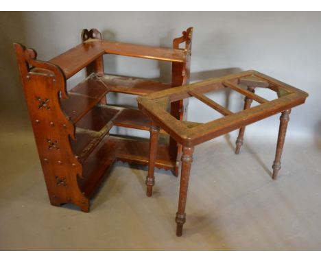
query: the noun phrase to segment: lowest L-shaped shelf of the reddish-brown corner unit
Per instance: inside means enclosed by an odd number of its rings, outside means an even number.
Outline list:
[[[83,164],[83,178],[78,179],[80,190],[86,197],[97,191],[108,169],[116,160],[138,165],[148,165],[149,139],[130,139],[122,136],[106,136]],[[158,143],[156,167],[174,171],[176,161],[169,158],[169,145]]]

